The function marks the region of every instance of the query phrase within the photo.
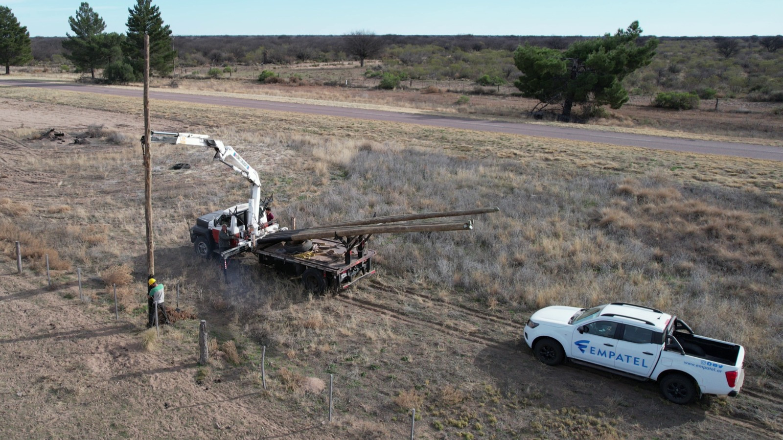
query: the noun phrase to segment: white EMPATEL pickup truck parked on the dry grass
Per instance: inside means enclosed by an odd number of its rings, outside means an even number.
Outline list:
[[[681,405],[704,394],[737,395],[745,379],[742,345],[698,336],[676,316],[641,305],[542,308],[528,320],[525,342],[547,365],[570,359],[657,380],[663,397]]]

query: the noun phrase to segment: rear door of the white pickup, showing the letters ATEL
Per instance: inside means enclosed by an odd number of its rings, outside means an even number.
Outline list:
[[[653,342],[656,333],[651,329],[629,324],[623,327],[622,335],[617,342],[614,368],[649,377],[655,362],[658,361],[663,344]]]

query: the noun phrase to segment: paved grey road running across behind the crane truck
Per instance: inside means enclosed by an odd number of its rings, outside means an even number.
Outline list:
[[[23,87],[56,88],[73,92],[99,93],[102,95],[141,97],[142,89],[111,88],[99,85],[79,85],[45,81],[5,80],[0,85]],[[554,139],[597,142],[620,146],[640,146],[658,150],[691,153],[721,154],[724,156],[749,157],[783,161],[783,147],[762,146],[734,142],[702,141],[669,138],[664,136],[636,135],[630,133],[601,132],[584,128],[555,127],[542,124],[525,124],[504,121],[485,121],[466,117],[442,117],[428,114],[397,113],[383,110],[354,109],[338,106],[319,106],[299,103],[279,103],[258,99],[228,98],[224,96],[188,95],[184,93],[150,90],[150,99],[179,101],[186,103],[237,106],[259,110],[279,110],[305,114],[323,114],[335,117],[352,117],[369,121],[389,121],[406,124],[429,125],[432,127],[462,128],[484,132],[509,133],[513,135],[541,136]]]

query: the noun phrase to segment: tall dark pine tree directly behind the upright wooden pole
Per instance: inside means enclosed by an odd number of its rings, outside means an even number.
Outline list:
[[[128,38],[122,52],[128,57],[136,78],[144,74],[145,33],[150,35],[150,70],[161,76],[171,74],[176,52],[171,49],[171,29],[168,24],[164,26],[161,10],[152,5],[152,0],[136,0],[128,13]]]

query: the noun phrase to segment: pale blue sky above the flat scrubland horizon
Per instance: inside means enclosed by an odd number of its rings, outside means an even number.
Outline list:
[[[135,0],[88,2],[107,32],[125,33]],[[80,1],[0,0],[31,37],[73,34]],[[783,0],[153,0],[174,35],[583,35],[639,20],[643,35],[783,34]]]

